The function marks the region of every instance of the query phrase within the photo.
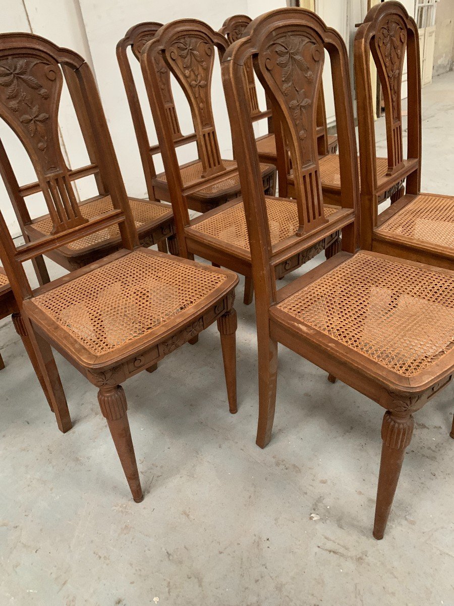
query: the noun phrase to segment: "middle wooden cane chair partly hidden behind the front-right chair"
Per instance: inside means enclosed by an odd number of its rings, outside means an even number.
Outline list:
[[[222,207],[214,208],[204,215],[189,220],[186,188],[180,177],[173,133],[162,88],[159,87],[159,69],[156,67],[159,65],[159,59],[165,62],[185,90],[194,123],[200,128],[201,157],[209,170],[213,170],[209,164],[212,158],[217,158],[217,167],[220,168],[219,163],[222,164],[222,161],[219,160],[219,154],[212,156],[217,146],[214,145],[215,138],[212,134],[214,130],[211,126],[211,96],[207,87],[192,86],[192,82],[209,82],[215,47],[223,50],[225,38],[202,21],[194,19],[174,21],[162,27],[153,40],[143,47],[140,64],[169,180],[180,255],[186,258],[199,255],[217,266],[222,265],[241,273],[246,277],[244,302],[249,304],[252,301],[252,268],[242,199],[236,198]],[[208,144],[209,138],[214,142],[213,144]],[[203,141],[205,144],[202,147]],[[261,164],[259,170],[262,175]],[[295,201],[265,195],[267,211],[273,226],[272,244],[283,253],[289,246],[288,238],[301,225],[298,205]],[[330,229],[326,230],[324,238],[315,246],[308,242],[292,247],[292,255],[284,262],[279,262],[275,268],[277,278],[300,267],[323,248],[331,250],[334,254],[337,250],[335,247],[338,245],[340,229],[349,218],[340,207],[326,207],[326,215],[329,217]],[[301,241],[298,243],[301,244]]]

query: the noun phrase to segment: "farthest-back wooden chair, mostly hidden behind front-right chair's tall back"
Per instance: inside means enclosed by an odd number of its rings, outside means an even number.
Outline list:
[[[252,21],[247,15],[233,15],[226,19],[220,28],[219,33],[227,38],[229,44],[241,38],[246,27]],[[258,121],[268,118],[268,134],[262,135],[256,139],[258,158],[261,162],[269,162],[278,167],[277,149],[274,133],[274,124],[271,109],[268,107],[265,112],[260,111],[258,107],[257,89],[255,87],[254,67],[252,62],[248,61],[245,65],[246,81],[248,83],[249,104],[251,106],[252,120]],[[267,105],[269,105],[267,99]],[[326,126],[326,111],[324,107],[323,85],[320,87],[320,95],[317,103],[317,147],[318,154],[325,156],[328,153],[337,151],[337,135],[328,135]]]

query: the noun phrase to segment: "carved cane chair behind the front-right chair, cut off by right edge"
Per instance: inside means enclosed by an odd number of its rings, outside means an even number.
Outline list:
[[[386,174],[376,178],[370,52],[377,65],[386,112]],[[408,145],[402,141],[401,82],[408,67]],[[454,197],[421,193],[421,76],[415,21],[399,2],[367,13],[355,38],[361,159],[361,244],[438,267],[454,268]],[[378,214],[381,191],[401,184],[401,198]],[[405,195],[404,195],[405,193]]]

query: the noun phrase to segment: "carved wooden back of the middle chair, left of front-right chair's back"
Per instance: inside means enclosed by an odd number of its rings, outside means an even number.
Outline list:
[[[185,255],[183,229],[189,224],[188,206],[182,195],[183,182],[176,155],[171,121],[166,111],[165,94],[160,87],[159,62],[166,65],[182,87],[191,108],[197,138],[202,178],[215,178],[223,173],[211,102],[211,77],[215,50],[222,56],[228,43],[224,36],[196,19],[180,19],[160,28],[140,55],[143,78],[153,113],[174,219],[179,236],[180,254]],[[250,118],[249,118],[250,119]]]

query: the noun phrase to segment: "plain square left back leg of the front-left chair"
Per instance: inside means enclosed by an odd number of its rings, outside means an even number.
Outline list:
[[[51,347],[41,335],[25,325],[20,313],[13,313],[12,319],[16,332],[27,350],[28,358],[33,365],[50,410],[55,415],[58,428],[62,433],[66,433],[73,427],[73,424]]]

